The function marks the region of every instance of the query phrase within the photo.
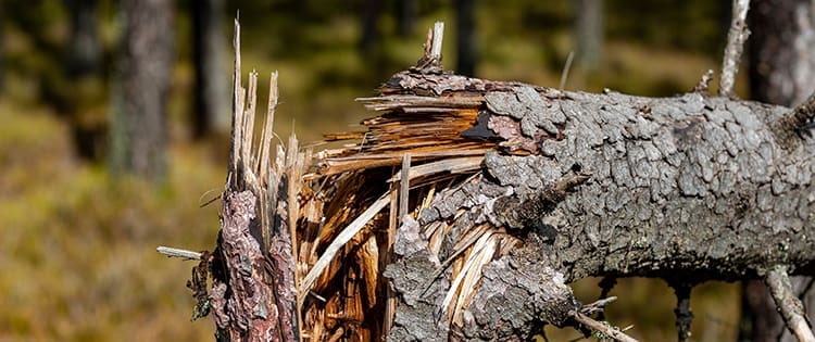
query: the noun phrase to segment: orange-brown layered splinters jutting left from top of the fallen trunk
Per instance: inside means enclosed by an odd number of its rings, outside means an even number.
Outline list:
[[[392,94],[356,100],[385,114],[363,121],[367,131],[326,135],[327,141],[360,141],[346,149],[324,151],[318,165],[323,175],[399,165],[405,153],[422,162],[484,155],[494,147],[494,143],[461,136],[476,122],[478,107],[484,102],[480,96]]]

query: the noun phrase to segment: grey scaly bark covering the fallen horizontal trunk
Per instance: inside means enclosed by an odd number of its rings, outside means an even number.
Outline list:
[[[397,237],[402,257],[386,273],[402,299],[393,341],[439,330],[436,320],[415,318],[440,308],[412,300],[411,283],[432,281],[434,257],[446,259],[461,238],[456,231],[479,223],[506,229],[524,246],[485,268],[463,325],[450,332],[467,340],[526,340],[543,324],[567,324],[580,304],[565,283],[585,277],[699,283],[756,279],[774,265],[812,274],[815,141],[776,141],[770,123],[787,107],[410,73],[398,74],[384,92],[480,94],[479,125],[487,127],[469,136],[499,144],[487,153],[482,174],[437,194],[419,213],[419,230],[438,221],[453,226],[440,255],[422,252],[422,238]],[[572,191],[560,186],[585,175],[590,178]],[[456,215],[460,210],[465,214]],[[430,291],[446,291],[448,281],[435,280]]]

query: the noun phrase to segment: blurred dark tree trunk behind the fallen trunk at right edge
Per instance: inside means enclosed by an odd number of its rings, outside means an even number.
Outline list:
[[[815,90],[815,11],[812,1],[753,1],[750,45],[750,88],[753,99],[780,105],[798,105]],[[811,277],[792,277],[793,291],[815,307],[815,291],[807,288]],[[775,307],[769,291],[758,280],[744,288],[742,340],[794,341]],[[810,319],[815,313],[810,311]]]

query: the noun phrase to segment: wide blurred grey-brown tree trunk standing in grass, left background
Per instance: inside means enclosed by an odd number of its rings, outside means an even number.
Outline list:
[[[124,0],[111,169],[161,181],[166,172],[167,97],[173,67],[172,1]]]

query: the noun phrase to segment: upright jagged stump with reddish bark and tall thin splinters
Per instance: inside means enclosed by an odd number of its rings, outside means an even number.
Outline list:
[[[235,73],[229,169],[223,192],[221,233],[212,255],[197,269],[212,273],[212,291],[205,296],[205,277],[190,286],[199,297],[196,315],[211,308],[218,341],[297,341],[299,339],[297,288],[292,250],[289,194],[299,182],[302,159],[297,139],[288,153],[277,151],[272,161],[272,125],[277,104],[277,73],[269,83],[268,113],[259,145],[253,148],[258,73],[249,74],[249,89],[241,84],[240,26],[235,22]],[[199,281],[196,281],[199,279]],[[200,314],[199,314],[200,312]],[[195,318],[196,316],[193,316]]]

